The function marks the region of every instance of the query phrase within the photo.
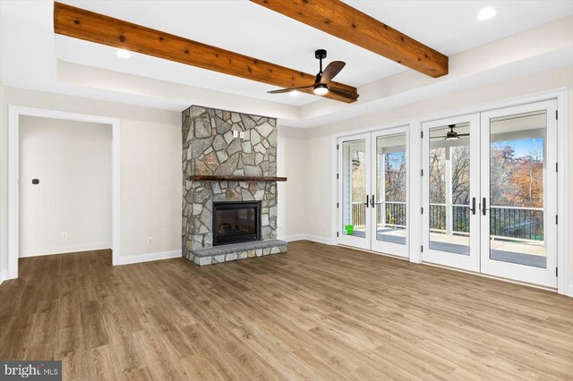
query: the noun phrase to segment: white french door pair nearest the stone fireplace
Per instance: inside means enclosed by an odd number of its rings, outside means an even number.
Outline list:
[[[407,128],[338,140],[338,242],[408,257]]]

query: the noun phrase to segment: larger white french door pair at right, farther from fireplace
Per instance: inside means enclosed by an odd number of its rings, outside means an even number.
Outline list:
[[[556,107],[423,123],[423,261],[557,286]]]

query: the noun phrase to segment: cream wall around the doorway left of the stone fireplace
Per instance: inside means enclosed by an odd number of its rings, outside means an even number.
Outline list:
[[[8,105],[118,118],[119,263],[181,255],[181,113],[11,87],[4,87],[2,102],[0,255],[3,267],[7,267],[8,258]]]

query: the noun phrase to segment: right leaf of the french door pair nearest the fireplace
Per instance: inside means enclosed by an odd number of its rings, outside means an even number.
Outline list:
[[[406,128],[372,135],[372,250],[407,257]]]

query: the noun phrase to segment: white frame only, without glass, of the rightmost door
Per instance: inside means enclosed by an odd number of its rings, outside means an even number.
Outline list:
[[[545,134],[545,182],[543,182],[544,230],[547,262],[545,268],[518,265],[514,263],[493,260],[490,258],[490,119],[511,114],[523,114],[536,110],[547,110],[547,126]],[[482,113],[481,143],[481,199],[486,198],[487,206],[482,205],[481,216],[481,271],[483,274],[500,276],[517,281],[540,284],[547,287],[557,286],[557,120],[555,99],[543,102],[529,103],[519,106],[503,107]],[[551,192],[551,193],[550,193]],[[483,208],[485,213],[483,214]],[[516,271],[518,270],[518,271]]]

